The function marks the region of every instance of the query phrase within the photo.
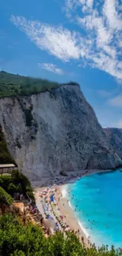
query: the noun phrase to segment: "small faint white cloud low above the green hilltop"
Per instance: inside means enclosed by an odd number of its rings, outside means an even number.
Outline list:
[[[50,72],[54,72],[58,75],[63,75],[64,71],[62,69],[57,68],[57,65],[54,65],[53,63],[38,63],[39,67],[42,69],[46,69]]]

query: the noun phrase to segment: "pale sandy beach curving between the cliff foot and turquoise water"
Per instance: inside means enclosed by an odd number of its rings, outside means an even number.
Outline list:
[[[103,172],[103,171],[102,171]],[[106,171],[108,172],[108,170]],[[53,179],[43,179],[43,184],[45,183],[45,186],[41,184],[39,181],[36,183],[33,183],[33,187],[35,189],[35,199],[36,199],[36,205],[41,213],[43,213],[43,217],[45,216],[44,210],[43,210],[43,202],[40,198],[40,193],[44,190],[50,189],[54,190],[54,199],[56,202],[56,213],[57,215],[61,215],[63,217],[63,221],[65,222],[66,226],[68,226],[71,230],[74,230],[76,232],[76,235],[79,236],[79,240],[85,244],[86,247],[90,247],[91,241],[90,237],[87,234],[87,231],[83,228],[82,223],[80,223],[76,217],[75,212],[72,210],[70,206],[70,202],[68,202],[68,197],[66,195],[66,187],[68,183],[74,183],[75,180],[83,177],[88,176],[94,173],[100,173],[100,171],[86,171],[84,170],[83,173],[69,173],[68,176],[56,176]],[[55,223],[57,223],[57,218],[55,217],[55,214],[52,211],[51,205],[48,204],[48,211],[50,213],[50,216],[54,218]],[[59,224],[59,223],[58,223]],[[62,230],[61,225],[59,224],[59,228]]]

